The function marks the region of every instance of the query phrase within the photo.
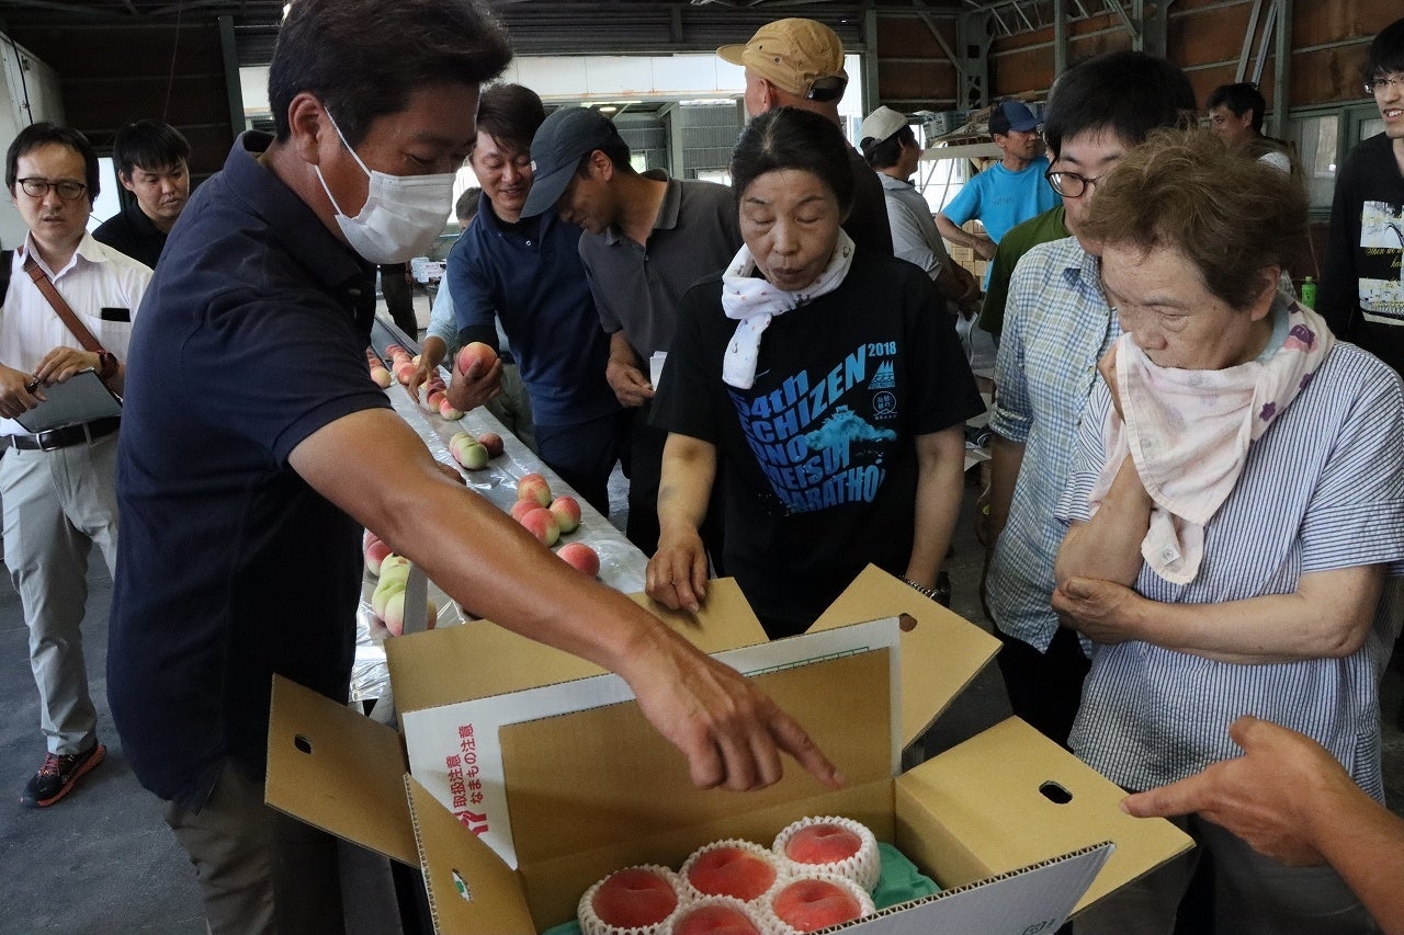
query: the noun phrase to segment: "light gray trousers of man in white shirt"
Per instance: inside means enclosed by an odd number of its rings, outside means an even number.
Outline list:
[[[97,743],[83,661],[88,553],[117,567],[117,434],[58,451],[10,448],[0,458],[4,563],[29,626],[29,667],[49,752]]]

